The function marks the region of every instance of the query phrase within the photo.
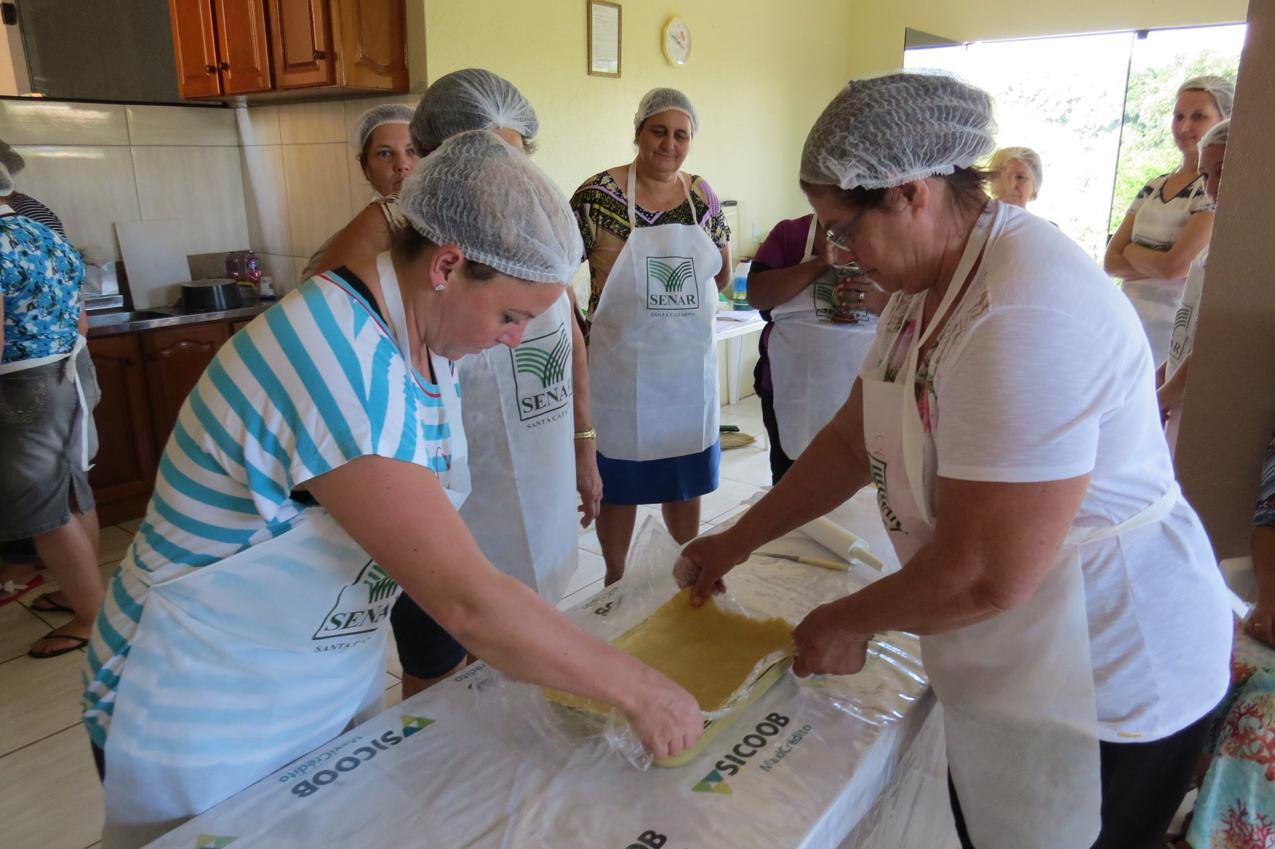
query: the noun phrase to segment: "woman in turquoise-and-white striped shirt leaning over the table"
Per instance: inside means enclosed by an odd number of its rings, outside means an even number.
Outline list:
[[[516,345],[561,297],[583,252],[565,196],[473,131],[423,161],[399,205],[413,227],[390,252],[289,293],[182,407],[88,651],[105,849],[379,710],[399,586],[507,674],[621,708],[657,756],[699,737],[688,693],[496,571],[456,514],[450,361]]]

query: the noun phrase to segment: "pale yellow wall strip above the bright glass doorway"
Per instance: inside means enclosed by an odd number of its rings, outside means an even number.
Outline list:
[[[847,1],[850,10],[850,76],[903,65],[907,27],[952,41],[992,41],[1239,23],[1248,10],[1247,0]]]

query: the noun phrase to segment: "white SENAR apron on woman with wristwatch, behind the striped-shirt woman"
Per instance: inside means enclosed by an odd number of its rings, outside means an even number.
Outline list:
[[[458,363],[473,479],[460,518],[496,569],[550,604],[562,600],[579,555],[572,321],[564,292],[518,348]]]

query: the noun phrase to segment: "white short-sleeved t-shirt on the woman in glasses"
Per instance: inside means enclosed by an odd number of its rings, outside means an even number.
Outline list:
[[[1024,210],[1005,212],[986,273],[918,368],[931,509],[941,515],[936,474],[1091,473],[1074,524],[1118,524],[1174,482],[1146,337],[1075,242]],[[894,349],[915,297],[890,302],[866,362]],[[1158,524],[1081,546],[1080,557],[1103,739],[1158,739],[1211,710],[1229,679],[1232,617],[1195,511],[1179,502]]]

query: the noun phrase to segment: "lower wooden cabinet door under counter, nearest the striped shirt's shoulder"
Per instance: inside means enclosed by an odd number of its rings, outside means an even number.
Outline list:
[[[229,338],[223,324],[196,324],[142,334],[154,444],[163,451],[186,395]]]

